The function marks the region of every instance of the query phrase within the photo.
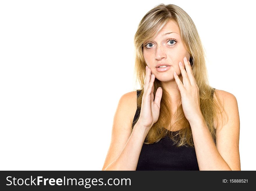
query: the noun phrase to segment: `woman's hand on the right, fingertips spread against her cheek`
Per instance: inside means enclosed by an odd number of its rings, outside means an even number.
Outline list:
[[[189,61],[186,57],[183,58],[183,61],[186,70],[183,67],[182,62],[179,62],[183,83],[179,79],[179,76],[177,76],[176,72],[173,73],[173,76],[177,83],[177,89],[180,91],[184,115],[189,123],[191,123],[202,117],[202,112],[200,109],[199,88],[196,84]]]

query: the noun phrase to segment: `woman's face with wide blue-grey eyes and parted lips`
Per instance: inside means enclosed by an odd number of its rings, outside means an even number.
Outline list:
[[[189,60],[190,57],[182,44],[179,26],[173,20],[162,28],[156,38],[143,43],[143,55],[151,73],[163,82],[175,80],[173,72],[181,75],[179,61],[184,66],[183,58],[186,56]],[[158,64],[168,67],[159,68]]]

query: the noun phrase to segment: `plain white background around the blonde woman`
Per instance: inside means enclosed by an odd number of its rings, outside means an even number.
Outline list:
[[[171,3],[197,27],[210,85],[237,98],[241,170],[256,170],[251,2],[1,1],[0,169],[101,170],[118,101],[137,89],[137,26]]]

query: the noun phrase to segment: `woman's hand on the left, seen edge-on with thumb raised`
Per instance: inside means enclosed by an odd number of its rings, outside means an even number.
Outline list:
[[[151,69],[146,66],[146,77],[144,83],[144,93],[141,102],[141,114],[138,124],[150,129],[157,122],[160,113],[160,102],[163,94],[162,88],[158,88],[154,100],[154,80],[155,75],[151,74]]]

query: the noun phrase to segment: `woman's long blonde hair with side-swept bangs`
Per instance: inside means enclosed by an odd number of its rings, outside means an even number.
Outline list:
[[[212,99],[212,92],[214,92],[214,88],[209,85],[205,63],[205,50],[195,24],[189,15],[182,8],[176,5],[159,4],[155,6],[146,13],[138,25],[137,32],[134,36],[136,83],[139,81],[141,86],[141,94],[137,99],[137,107],[141,107],[142,96],[144,93],[145,67],[147,65],[143,57],[143,43],[156,37],[170,20],[175,21],[179,26],[181,40],[190,54],[189,61],[192,65],[192,71],[199,87],[200,109],[216,144],[216,129],[214,128],[213,119],[217,117],[218,113],[222,116],[224,108],[218,94],[215,94],[216,100]],[[178,104],[177,111],[172,113],[171,98],[165,88],[163,88],[161,81],[155,78],[154,97],[158,87],[161,87],[163,90],[160,104],[160,115],[158,121],[148,132],[144,143],[152,144],[168,135],[177,147],[183,145],[194,147],[191,127],[184,115],[182,105]],[[174,124],[181,126],[182,129],[171,133],[167,128],[170,126],[173,117],[176,119]],[[137,120],[138,118],[136,121]]]

